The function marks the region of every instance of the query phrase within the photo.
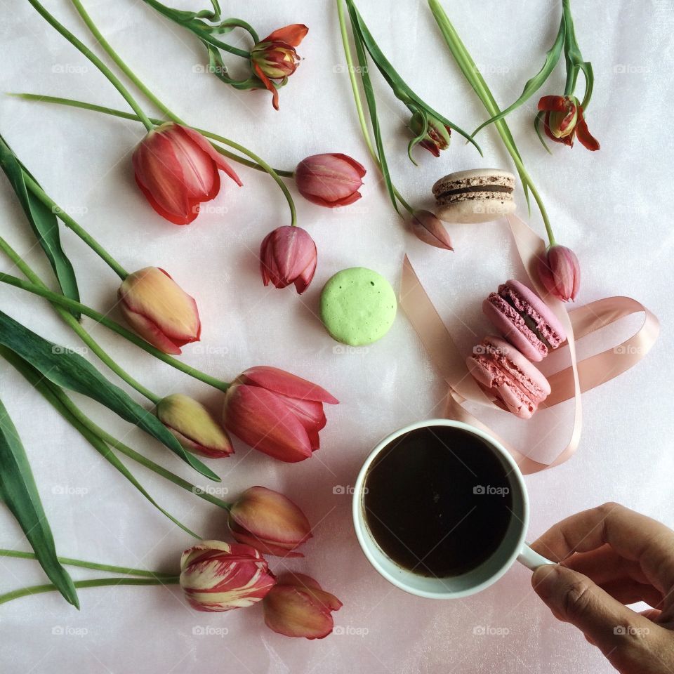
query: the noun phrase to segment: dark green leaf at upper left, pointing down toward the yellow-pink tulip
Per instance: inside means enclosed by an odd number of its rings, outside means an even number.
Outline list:
[[[0,166],[11,183],[33,233],[54,270],[62,293],[79,302],[75,272],[61,247],[58,219],[51,209],[48,209],[32,192],[27,190],[24,176],[25,174],[30,176],[30,173],[2,136],[0,136]],[[79,312],[73,310],[72,315],[79,320]]]

